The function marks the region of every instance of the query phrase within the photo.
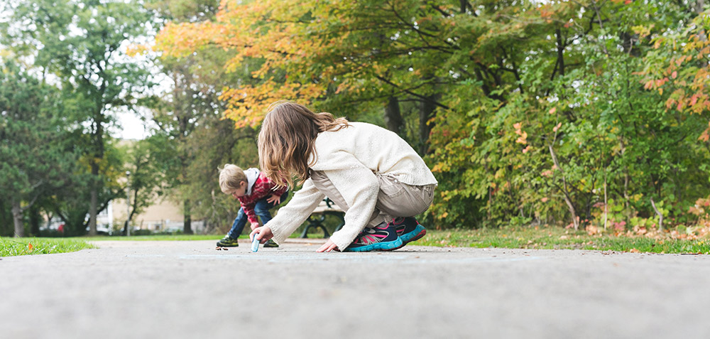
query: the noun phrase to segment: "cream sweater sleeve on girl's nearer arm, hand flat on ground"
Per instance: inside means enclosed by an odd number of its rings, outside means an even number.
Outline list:
[[[330,240],[343,250],[370,221],[377,203],[380,183],[375,173],[354,155],[339,152],[337,161],[343,165],[342,169],[324,172],[349,206],[345,213],[345,225],[330,237]]]

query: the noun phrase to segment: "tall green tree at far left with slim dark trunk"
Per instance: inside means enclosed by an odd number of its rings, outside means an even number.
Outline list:
[[[124,1],[11,1],[13,23],[8,26],[15,50],[35,55],[35,65],[51,72],[72,90],[89,136],[89,235],[96,235],[101,171],[106,156],[107,127],[119,107],[136,104],[134,95],[151,85],[141,65],[121,58],[124,43],[146,33],[150,14]],[[22,27],[20,27],[22,26]],[[25,29],[25,28],[31,29]],[[42,48],[36,48],[41,46]]]

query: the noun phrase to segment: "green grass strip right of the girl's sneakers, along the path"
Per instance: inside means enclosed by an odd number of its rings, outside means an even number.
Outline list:
[[[507,227],[487,230],[427,230],[413,244],[437,247],[503,247],[520,249],[592,249],[619,252],[710,254],[710,240],[587,235],[560,227]]]

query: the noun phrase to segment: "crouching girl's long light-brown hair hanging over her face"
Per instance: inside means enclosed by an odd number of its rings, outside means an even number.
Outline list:
[[[279,101],[269,106],[258,136],[261,171],[276,185],[293,187],[293,176],[305,181],[316,159],[315,139],[322,131],[348,127],[345,118],[314,113],[295,102]],[[313,154],[311,162],[309,158]]]

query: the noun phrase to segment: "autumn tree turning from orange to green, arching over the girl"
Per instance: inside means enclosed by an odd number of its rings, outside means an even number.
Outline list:
[[[228,3],[214,21],[168,23],[158,36],[158,50],[174,57],[215,47],[234,50],[224,68],[249,70],[221,96],[228,103],[225,115],[236,127],[256,127],[266,106],[277,99],[298,99],[351,117],[364,115],[358,113],[365,106],[361,103],[378,101],[379,114],[384,112],[391,128],[402,132],[400,102],[420,102],[417,142],[423,151],[429,119],[442,106],[437,102],[442,78],[437,65],[425,60],[439,58],[439,50],[452,46],[445,36],[432,36],[437,24],[419,28],[410,22],[422,11],[444,11],[435,5],[422,8],[407,1],[386,6],[380,1]]]

